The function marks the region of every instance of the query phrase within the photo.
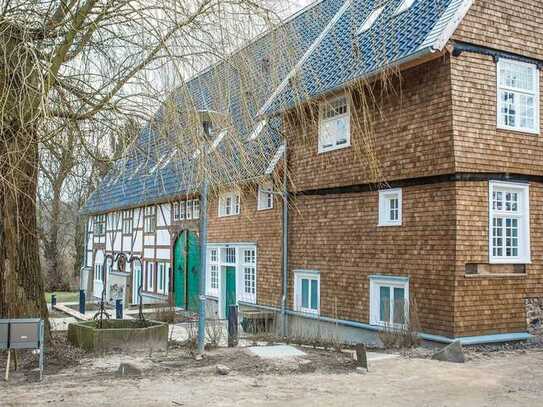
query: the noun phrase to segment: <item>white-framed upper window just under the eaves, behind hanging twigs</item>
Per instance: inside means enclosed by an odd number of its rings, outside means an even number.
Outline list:
[[[319,153],[351,145],[350,107],[346,95],[325,100],[319,108]]]

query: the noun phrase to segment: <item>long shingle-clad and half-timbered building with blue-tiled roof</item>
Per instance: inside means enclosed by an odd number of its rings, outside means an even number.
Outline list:
[[[275,63],[283,75],[268,83],[249,75],[258,90],[253,125],[231,137],[266,152],[254,174],[210,196],[206,280],[215,312],[224,317],[233,301],[368,332],[416,321],[423,338],[441,342],[526,339],[543,318],[541,6],[324,0],[285,23],[296,50],[288,57],[274,53],[270,34],[240,51],[255,71]],[[255,56],[263,47],[264,70]],[[166,175],[168,165],[159,165]],[[148,167],[142,177],[152,176]],[[170,176],[186,180],[186,168]],[[147,300],[175,298],[190,309],[196,186],[119,198],[103,184],[86,209],[88,287],[95,281],[98,296],[107,280],[104,254],[138,257],[129,264],[141,263]],[[164,215],[154,229],[144,225],[148,207]],[[134,235],[108,246],[109,222],[103,233],[96,225],[126,210]]]

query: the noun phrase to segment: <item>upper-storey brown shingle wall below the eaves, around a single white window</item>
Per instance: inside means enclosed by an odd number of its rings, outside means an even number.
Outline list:
[[[375,181],[368,173],[368,151],[376,155],[382,179],[452,172],[449,74],[449,59],[443,57],[403,72],[382,97],[377,89],[374,108],[379,113],[374,110],[374,130],[362,132],[364,114],[356,106],[351,119],[350,148],[319,154],[317,123],[299,117],[290,120],[286,131],[291,189],[303,191]],[[365,138],[372,139],[370,150],[365,150]]]

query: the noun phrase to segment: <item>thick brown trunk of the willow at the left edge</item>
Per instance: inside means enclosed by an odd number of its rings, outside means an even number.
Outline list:
[[[42,318],[48,327],[36,224],[37,135],[32,128],[0,131],[0,315]]]

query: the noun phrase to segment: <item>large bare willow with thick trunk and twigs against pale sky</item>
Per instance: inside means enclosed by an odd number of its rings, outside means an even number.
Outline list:
[[[84,130],[150,116],[160,96],[153,69],[175,60],[172,80],[183,80],[229,51],[222,38],[235,44],[270,18],[266,2],[251,0],[0,1],[0,315],[47,316],[40,146],[63,163],[51,177],[58,195],[70,146],[92,155],[102,142]]]

